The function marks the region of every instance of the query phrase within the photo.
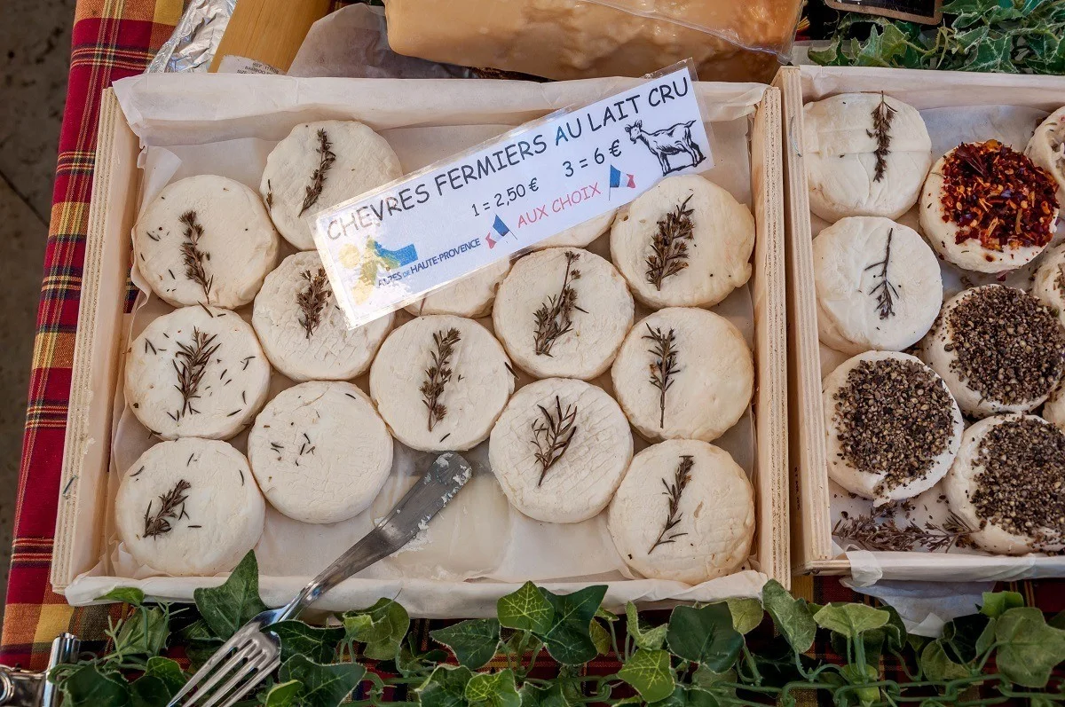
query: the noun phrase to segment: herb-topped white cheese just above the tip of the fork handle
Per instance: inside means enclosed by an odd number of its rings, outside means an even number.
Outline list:
[[[393,331],[370,368],[370,395],[393,437],[422,451],[463,451],[487,440],[513,390],[499,342],[449,314]]]

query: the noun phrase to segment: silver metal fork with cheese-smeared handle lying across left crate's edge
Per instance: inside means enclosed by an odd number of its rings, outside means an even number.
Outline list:
[[[200,668],[167,707],[228,707],[251,692],[281,664],[277,635],[267,627],[292,619],[355,573],[392,555],[426,528],[473,475],[465,459],[446,453],[432,462],[422,480],[395,508],[335,562],[279,609],[267,609],[240,628]]]

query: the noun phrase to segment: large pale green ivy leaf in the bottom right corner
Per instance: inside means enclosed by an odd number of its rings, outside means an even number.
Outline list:
[[[999,672],[1011,683],[1043,688],[1050,671],[1065,660],[1065,631],[1048,626],[1035,607],[1007,609],[995,627]]]

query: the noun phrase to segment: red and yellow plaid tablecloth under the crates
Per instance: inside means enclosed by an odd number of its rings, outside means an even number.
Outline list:
[[[112,81],[144,70],[169,36],[181,9],[182,0],[78,2],[0,643],[0,662],[7,665],[43,668],[52,639],[64,630],[100,640],[109,611],[115,611],[108,607],[70,608],[48,582],[96,129],[100,93]],[[1045,611],[1065,609],[1065,582],[1031,581],[1012,588]],[[794,591],[819,604],[855,597],[831,578],[798,577]],[[424,635],[430,623],[416,622],[415,630]],[[596,669],[611,668],[609,661],[604,663]]]

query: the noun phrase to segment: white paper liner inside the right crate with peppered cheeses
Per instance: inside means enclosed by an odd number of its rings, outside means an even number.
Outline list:
[[[870,71],[876,75],[876,71]],[[1023,151],[1035,127],[1050,113],[1054,101],[1065,100],[1060,93],[1032,87],[1027,89],[1010,88],[1007,77],[951,75],[949,81],[943,82],[907,82],[905,71],[887,71],[883,73],[883,83],[870,81],[869,91],[884,91],[895,98],[906,101],[917,108],[929,135],[932,137],[932,154],[934,160],[940,158],[949,149],[963,142],[983,142],[998,139],[1015,150]],[[918,73],[911,71],[908,73]],[[977,80],[979,79],[979,81]],[[803,67],[803,97],[806,101],[820,100],[829,96],[846,93],[846,71]],[[853,78],[850,79],[853,81]],[[947,85],[945,86],[945,83]],[[996,86],[1001,85],[1002,88]],[[1049,88],[1049,86],[1048,86]],[[986,105],[973,104],[974,101],[996,100],[1007,94],[1013,100],[1035,102],[1047,101],[1047,110],[1026,105]],[[918,225],[918,208],[915,205],[899,223],[921,232]],[[810,229],[816,236],[829,226],[828,221],[810,214]],[[1061,221],[1059,221],[1061,227]],[[1060,228],[1055,243],[1065,233]],[[1038,268],[1042,257],[1023,268],[1010,273],[1003,279],[996,275],[967,273],[940,260],[944,276],[944,297],[949,299],[962,290],[1000,282],[1023,290],[1029,290],[1031,276]],[[846,361],[849,356],[828,346],[821,345],[821,377],[826,377],[832,371]],[[847,491],[830,480],[832,494],[831,523],[835,526],[843,512],[854,516],[868,514],[872,510],[872,502],[852,497]],[[923,526],[925,522],[943,523],[949,509],[943,495],[941,484],[937,483],[929,491],[912,499],[914,512],[907,517],[897,515],[898,522],[904,524],[910,519]],[[1020,578],[1039,578],[1062,576],[1065,574],[1065,557],[1047,557],[1032,554],[1025,557],[998,556],[976,548],[953,548],[948,554],[913,550],[904,553],[867,552],[853,547],[843,547],[833,538],[833,552],[836,557],[846,556],[851,563],[853,585],[869,587],[881,579],[927,580],[931,577],[944,576],[945,568],[949,566],[944,577],[949,581],[1012,581]],[[949,559],[947,559],[949,558]],[[946,564],[949,562],[949,565]],[[904,597],[899,597],[904,601]],[[933,622],[934,623],[934,622]]]

